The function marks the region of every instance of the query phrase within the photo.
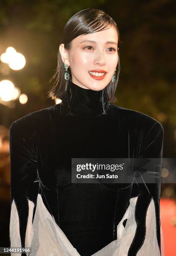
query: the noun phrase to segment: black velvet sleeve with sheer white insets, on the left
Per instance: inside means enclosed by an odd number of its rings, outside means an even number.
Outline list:
[[[31,138],[14,121],[10,126],[11,247],[30,247],[32,239],[31,223],[39,190],[37,156],[32,145]]]

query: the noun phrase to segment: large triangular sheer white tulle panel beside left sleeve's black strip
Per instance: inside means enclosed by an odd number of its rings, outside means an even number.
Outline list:
[[[40,194],[33,222],[33,238],[30,256],[79,256],[55,219],[43,204]]]

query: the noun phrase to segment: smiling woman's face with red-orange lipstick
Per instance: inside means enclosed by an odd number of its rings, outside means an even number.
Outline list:
[[[68,61],[72,73],[72,82],[85,89],[102,90],[109,84],[118,63],[118,34],[114,26],[111,28],[81,35],[72,40],[67,50]],[[95,72],[98,74],[89,74]],[[103,77],[99,77],[105,73]],[[97,77],[98,75],[98,77]]]

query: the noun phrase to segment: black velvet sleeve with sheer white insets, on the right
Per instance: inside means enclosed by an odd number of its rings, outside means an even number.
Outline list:
[[[131,223],[135,225],[136,231],[129,247],[128,256],[164,256],[164,251],[161,253],[163,237],[160,223],[160,174],[163,137],[164,129],[159,122],[156,122],[143,138],[141,144],[139,158],[155,159],[151,170],[148,170],[149,174],[151,173],[155,177],[155,183],[145,183],[143,179],[143,182],[136,182],[137,186],[134,184],[139,195],[131,198],[131,205],[129,206],[129,211],[132,211],[129,216]],[[128,221],[125,228],[130,230],[131,223]],[[131,228],[132,230],[134,229]]]

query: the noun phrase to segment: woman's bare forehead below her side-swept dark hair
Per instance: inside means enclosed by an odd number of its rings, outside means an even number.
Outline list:
[[[87,35],[81,35],[77,36],[73,39],[73,44],[84,44],[83,41],[94,41],[92,43],[94,44],[106,44],[107,41],[118,43],[118,34],[116,28],[114,26],[111,26],[111,28],[108,28],[103,31],[94,32]],[[87,43],[88,43],[87,41]]]

